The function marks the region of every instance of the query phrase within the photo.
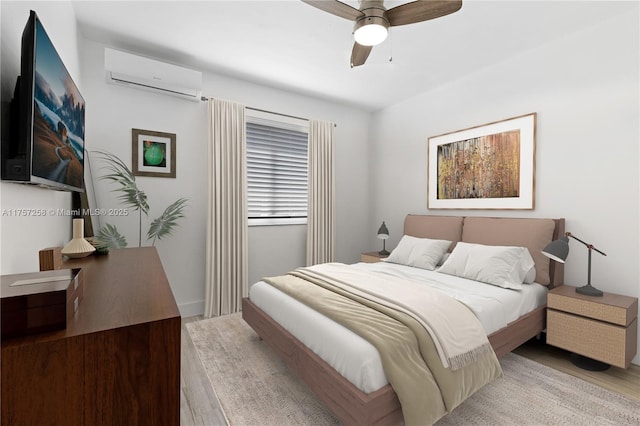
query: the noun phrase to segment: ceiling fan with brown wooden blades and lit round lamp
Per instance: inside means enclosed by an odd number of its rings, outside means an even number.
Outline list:
[[[389,27],[428,21],[457,12],[462,0],[417,0],[386,9],[383,0],[360,0],[360,9],[341,1],[302,0],[332,15],[354,21],[351,67],[365,63],[373,46],[387,38]]]

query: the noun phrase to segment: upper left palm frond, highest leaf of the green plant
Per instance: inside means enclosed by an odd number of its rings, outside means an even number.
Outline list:
[[[100,159],[106,162],[106,166],[104,166],[103,169],[109,172],[104,176],[100,176],[100,179],[109,180],[119,185],[119,188],[113,190],[122,192],[118,199],[133,210],[140,210],[147,215],[149,213],[147,194],[138,188],[136,177],[129,167],[114,154],[106,151],[95,152],[98,153]]]

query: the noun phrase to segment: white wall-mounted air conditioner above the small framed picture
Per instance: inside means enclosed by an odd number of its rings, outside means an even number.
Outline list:
[[[200,101],[202,73],[177,65],[104,49],[105,78],[108,83],[151,90],[165,95]]]

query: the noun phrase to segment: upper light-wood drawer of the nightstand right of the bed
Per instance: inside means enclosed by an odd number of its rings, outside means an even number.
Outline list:
[[[557,291],[549,293],[547,308],[621,326],[631,324],[638,316],[638,300],[631,297],[608,293],[601,298],[582,296],[568,286],[560,287]]]

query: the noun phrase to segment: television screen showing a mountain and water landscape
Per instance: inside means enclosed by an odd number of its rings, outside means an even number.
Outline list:
[[[85,101],[42,24],[35,22],[32,180],[82,189]]]

